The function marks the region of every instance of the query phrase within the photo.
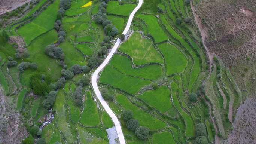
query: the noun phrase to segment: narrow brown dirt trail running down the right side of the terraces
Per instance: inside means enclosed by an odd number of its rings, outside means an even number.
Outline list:
[[[208,77],[207,77],[207,78],[204,80],[204,82],[203,82],[203,83],[205,83],[206,80],[209,79],[209,77],[211,76],[211,72],[212,72],[211,65],[213,64],[213,55],[210,53],[209,49],[208,49],[207,46],[205,45],[205,37],[207,36],[207,31],[203,28],[202,22],[201,22],[201,19],[199,18],[199,16],[196,15],[196,10],[195,10],[195,8],[193,7],[192,2],[190,2],[190,6],[191,6],[191,9],[192,9],[192,12],[193,12],[193,16],[194,16],[194,18],[195,18],[196,25],[198,26],[199,31],[200,31],[201,36],[202,36],[202,43],[203,43],[203,45],[204,45],[204,48],[205,48],[206,53],[207,53],[207,55],[208,55],[208,57],[209,57],[209,60],[210,60],[210,70],[209,70],[209,74],[208,74]],[[204,96],[203,96],[203,98],[204,98]],[[204,100],[206,101],[205,98],[204,98]],[[210,113],[210,118],[211,118],[211,121],[213,122],[213,126],[214,126],[214,129],[215,129],[215,131],[216,131],[216,134],[215,134],[215,144],[220,144],[220,140],[219,140],[219,137],[218,137],[218,135],[217,135],[217,133],[218,133],[218,128],[217,128],[217,125],[216,125],[216,123],[215,123],[215,121],[214,121],[214,119],[213,119],[213,116],[211,115],[211,104],[210,104],[210,102],[208,102],[208,101],[206,101],[206,102],[207,102],[207,104],[208,104],[208,106],[209,106],[209,109],[210,109],[210,111],[209,111],[209,113]]]

